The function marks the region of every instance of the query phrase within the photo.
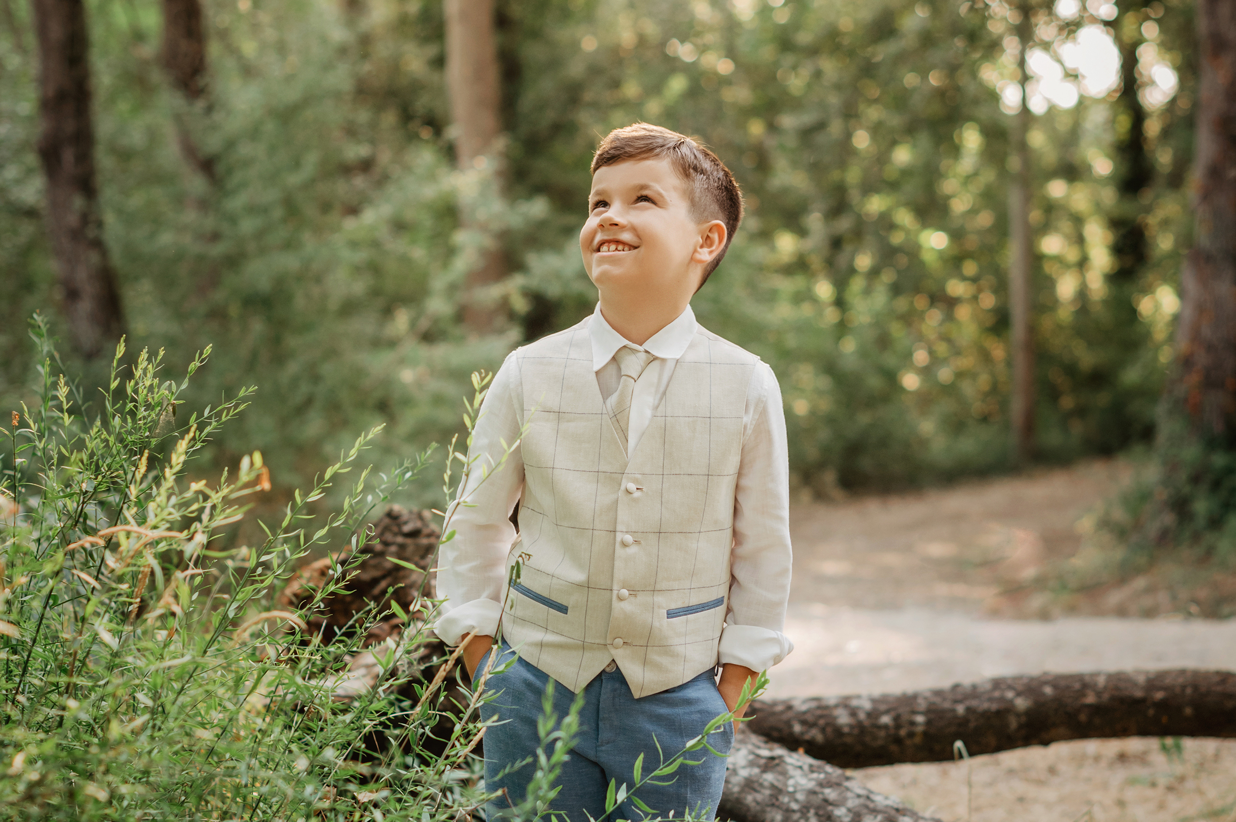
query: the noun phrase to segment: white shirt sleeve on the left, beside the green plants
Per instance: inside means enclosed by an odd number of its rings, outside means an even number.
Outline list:
[[[518,383],[512,354],[481,403],[468,449],[468,478],[447,511],[447,529],[455,532],[455,538],[442,545],[438,557],[438,596],[445,602],[434,625],[447,645],[457,645],[473,630],[492,637],[502,619],[507,554],[515,540],[510,512],[524,486]]]

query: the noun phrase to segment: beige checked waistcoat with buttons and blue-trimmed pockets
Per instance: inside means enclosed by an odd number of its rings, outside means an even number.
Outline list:
[[[703,330],[628,460],[588,320],[515,352],[524,491],[502,630],[578,691],[616,660],[635,697],[717,663],[743,412],[759,358]]]

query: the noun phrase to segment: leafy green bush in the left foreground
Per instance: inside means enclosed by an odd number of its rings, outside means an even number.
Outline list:
[[[168,409],[188,379],[162,381],[162,357],[143,351],[129,377],[112,370],[104,410],[88,419],[42,326],[36,337],[40,403],[15,420],[17,462],[4,473],[0,816],[455,820],[488,799],[468,753],[491,697],[442,705],[436,682],[419,679],[436,661],[418,653],[423,629],[371,648],[377,684],[340,700],[357,640],[307,644],[304,614],[273,603],[309,550],[355,543],[423,460],[375,482],[358,467],[371,430],[262,525],[260,544],[230,544],[227,527],[269,489],[261,454],[218,482],[185,472],[251,391],[177,426]],[[314,517],[309,503],[332,486],[340,508]],[[350,562],[316,602],[346,585]],[[419,701],[397,693],[409,680]],[[433,740],[442,710],[461,721]]]

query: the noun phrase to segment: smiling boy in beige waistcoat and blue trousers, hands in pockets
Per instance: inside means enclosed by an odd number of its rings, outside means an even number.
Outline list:
[[[452,645],[476,632],[470,674],[499,622],[503,654],[506,643],[519,653],[486,685],[501,691],[507,721],[485,738],[486,786],[506,792],[494,812],[525,796],[534,764],[499,773],[535,752],[549,680],[559,716],[583,691],[551,806],[571,822],[599,820],[609,780],[634,785],[640,753],[643,773],[656,769],[654,737],[674,755],[792,649],[781,633],[789,467],[776,378],[690,308],[742,220],[738,184],[711,151],[648,124],[612,131],[592,174],[580,250],[597,309],[518,349],[494,376],[472,454],[494,460],[499,440],[529,428],[471,493],[475,507],[455,511],[435,628]],[[519,554],[528,559],[507,591]],[[728,752],[733,733],[727,723],[709,743]],[[691,758],[701,756],[639,799],[662,816],[711,818],[726,761],[707,749]],[[641,816],[629,800],[614,812]]]

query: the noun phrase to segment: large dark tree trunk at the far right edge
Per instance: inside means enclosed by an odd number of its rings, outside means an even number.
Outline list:
[[[1196,0],[1196,27],[1194,241],[1138,536],[1236,557],[1236,4]]]

